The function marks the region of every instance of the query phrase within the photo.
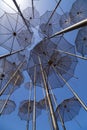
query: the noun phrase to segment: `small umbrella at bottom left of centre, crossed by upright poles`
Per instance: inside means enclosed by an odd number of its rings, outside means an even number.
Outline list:
[[[21,120],[32,120],[33,118],[33,100],[25,100],[20,103],[18,116]],[[41,115],[41,109],[39,108],[40,104],[38,102],[35,103],[36,105],[36,117]]]

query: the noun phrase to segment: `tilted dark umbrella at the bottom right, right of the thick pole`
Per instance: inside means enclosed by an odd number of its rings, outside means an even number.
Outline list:
[[[73,97],[70,99],[64,100],[61,104],[58,105],[55,111],[55,116],[58,121],[60,121],[58,111],[64,122],[72,120],[76,115],[79,114],[81,109],[81,104],[79,101]]]

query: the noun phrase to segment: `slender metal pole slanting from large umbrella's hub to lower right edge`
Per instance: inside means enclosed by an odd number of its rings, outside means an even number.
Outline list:
[[[53,66],[54,71],[59,75],[59,77],[62,79],[62,81],[66,84],[66,86],[68,87],[68,89],[72,92],[72,94],[76,97],[76,99],[78,99],[79,103],[82,105],[82,107],[87,111],[87,106],[85,105],[85,103],[81,100],[81,98],[78,96],[78,94],[72,89],[72,87],[70,86],[70,84],[63,78],[63,76],[56,71],[55,67]]]

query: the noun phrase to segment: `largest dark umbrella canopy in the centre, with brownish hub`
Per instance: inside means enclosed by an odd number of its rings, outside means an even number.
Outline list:
[[[74,75],[77,58],[60,53],[56,48],[75,53],[74,46],[68,43],[64,38],[61,39],[58,46],[50,40],[41,41],[30,52],[30,62],[27,71],[33,83],[34,67],[36,67],[36,84],[39,85],[42,82],[42,73],[38,56],[41,59],[43,70],[46,73],[47,82],[51,84],[52,88],[62,87],[65,84],[59,74],[61,74],[66,81]]]

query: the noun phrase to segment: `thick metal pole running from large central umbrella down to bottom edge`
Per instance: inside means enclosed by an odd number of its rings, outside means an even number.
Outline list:
[[[48,101],[48,105],[49,105],[49,110],[50,110],[50,115],[51,115],[51,119],[52,119],[53,129],[54,130],[59,130],[58,124],[57,124],[57,120],[55,118],[55,113],[54,113],[54,109],[53,109],[51,97],[50,97],[50,94],[49,94],[49,88],[48,88],[48,85],[46,83],[45,73],[43,72],[43,68],[42,68],[42,64],[41,64],[41,59],[40,59],[39,56],[38,56],[38,60],[39,60],[39,63],[40,63],[40,69],[41,69],[43,83],[44,83],[44,88],[45,88],[46,97],[47,97],[47,101]]]

